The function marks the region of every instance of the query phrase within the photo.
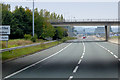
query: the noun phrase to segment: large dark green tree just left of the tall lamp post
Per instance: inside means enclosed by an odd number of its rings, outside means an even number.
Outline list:
[[[29,14],[29,15],[28,15]],[[31,12],[20,6],[13,11],[11,21],[11,34],[10,38],[24,38],[24,34],[31,33]]]

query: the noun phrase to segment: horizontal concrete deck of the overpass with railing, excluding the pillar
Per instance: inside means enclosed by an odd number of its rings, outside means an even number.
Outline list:
[[[51,21],[53,26],[70,26],[70,25],[79,25],[79,26],[103,26],[103,25],[111,25],[117,26],[120,21],[117,19],[107,19],[107,20],[63,20],[63,21]]]

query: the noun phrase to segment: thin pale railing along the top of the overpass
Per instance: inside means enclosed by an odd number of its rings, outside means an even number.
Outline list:
[[[50,22],[117,22],[118,19],[64,19],[64,20],[50,20]]]

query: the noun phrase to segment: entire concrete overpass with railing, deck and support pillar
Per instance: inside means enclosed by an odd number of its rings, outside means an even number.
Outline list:
[[[110,26],[118,26],[118,19],[72,19],[50,21],[53,26],[105,26],[106,41],[109,39]]]

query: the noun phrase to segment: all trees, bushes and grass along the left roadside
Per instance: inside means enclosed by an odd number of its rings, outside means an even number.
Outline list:
[[[64,21],[62,14],[51,13],[46,9],[34,10],[34,37],[32,36],[32,10],[28,7],[16,6],[13,11],[9,4],[2,5],[2,25],[10,25],[8,48],[41,43],[37,46],[20,48],[2,52],[2,59],[9,60],[30,55],[35,52],[58,45],[67,40],[75,39],[68,37],[68,30],[63,27],[53,27],[51,21]],[[44,44],[49,40],[55,42]],[[6,48],[6,42],[2,41],[2,48]]]

